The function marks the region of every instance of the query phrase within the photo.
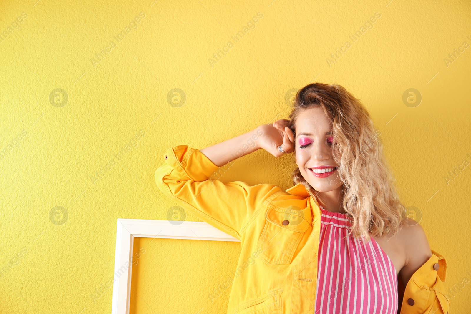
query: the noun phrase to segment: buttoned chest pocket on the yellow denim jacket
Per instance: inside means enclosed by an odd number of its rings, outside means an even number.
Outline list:
[[[295,207],[268,208],[265,217],[267,221],[257,243],[263,250],[259,258],[268,265],[290,264],[309,223]]]

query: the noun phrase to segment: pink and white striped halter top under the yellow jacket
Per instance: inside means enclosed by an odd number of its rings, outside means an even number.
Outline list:
[[[398,278],[390,258],[373,238],[345,238],[346,214],[321,211],[315,314],[396,314]]]

